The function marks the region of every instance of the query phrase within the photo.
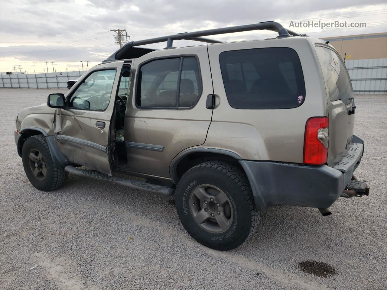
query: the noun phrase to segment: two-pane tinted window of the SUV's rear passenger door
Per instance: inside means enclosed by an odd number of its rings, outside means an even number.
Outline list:
[[[196,58],[154,60],[140,67],[136,104],[141,107],[176,108],[179,100],[179,107],[191,107],[199,97],[201,86]]]

